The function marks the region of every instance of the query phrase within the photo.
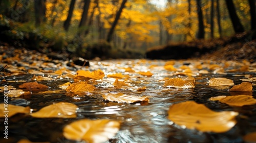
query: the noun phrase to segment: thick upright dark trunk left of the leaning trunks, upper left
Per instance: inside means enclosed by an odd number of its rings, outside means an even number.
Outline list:
[[[35,25],[40,26],[46,20],[45,0],[34,0]]]

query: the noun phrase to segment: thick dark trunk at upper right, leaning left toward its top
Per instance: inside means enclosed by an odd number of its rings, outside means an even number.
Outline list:
[[[240,22],[240,19],[238,18],[238,15],[236,13],[236,8],[234,7],[234,3],[232,0],[225,0],[229,17],[231,19],[233,29],[235,33],[244,32],[244,27],[242,23]]]

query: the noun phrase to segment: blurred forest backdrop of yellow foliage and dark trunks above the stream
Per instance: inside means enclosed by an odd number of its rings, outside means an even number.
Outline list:
[[[2,42],[87,59],[251,33],[255,20],[254,0],[0,0]]]

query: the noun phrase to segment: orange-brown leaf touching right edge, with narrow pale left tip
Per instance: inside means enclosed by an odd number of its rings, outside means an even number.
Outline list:
[[[221,103],[225,103],[230,106],[238,106],[238,107],[256,104],[256,99],[254,99],[252,96],[247,96],[247,95],[220,96],[220,97],[210,98],[209,100],[214,100],[214,101],[218,100]]]

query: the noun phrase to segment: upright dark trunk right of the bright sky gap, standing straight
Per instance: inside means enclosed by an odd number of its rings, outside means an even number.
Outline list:
[[[198,13],[198,39],[204,39],[204,21],[203,21],[203,12],[201,9],[201,0],[197,0],[197,13]]]

